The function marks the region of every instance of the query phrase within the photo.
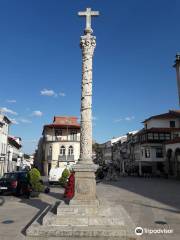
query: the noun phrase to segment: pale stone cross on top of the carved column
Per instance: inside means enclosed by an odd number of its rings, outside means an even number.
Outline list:
[[[80,17],[86,17],[86,28],[85,33],[92,33],[91,28],[91,17],[96,17],[99,15],[99,11],[91,11],[91,8],[86,8],[85,12],[78,12]]]

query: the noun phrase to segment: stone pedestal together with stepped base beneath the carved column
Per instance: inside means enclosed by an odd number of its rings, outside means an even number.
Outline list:
[[[49,210],[26,231],[26,239],[48,240],[133,240],[135,226],[121,205],[98,200],[93,163],[74,166],[75,195],[69,204],[61,202],[55,213]]]

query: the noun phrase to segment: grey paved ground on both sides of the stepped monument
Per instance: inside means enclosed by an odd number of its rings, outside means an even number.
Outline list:
[[[172,234],[143,234],[142,240],[180,239],[180,181],[124,177],[117,182],[97,184],[97,195],[111,204],[122,204],[136,226],[172,229]],[[22,240],[28,224],[50,204],[62,199],[63,189],[24,199],[0,196],[0,240]]]

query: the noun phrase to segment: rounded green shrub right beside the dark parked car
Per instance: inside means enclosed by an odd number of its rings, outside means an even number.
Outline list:
[[[32,168],[29,171],[29,181],[34,191],[42,192],[44,190],[44,186],[41,182],[41,174],[37,168]]]

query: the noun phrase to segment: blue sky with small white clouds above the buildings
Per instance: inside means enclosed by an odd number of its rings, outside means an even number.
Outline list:
[[[178,109],[175,55],[178,0],[0,0],[0,108],[10,135],[32,153],[54,116],[80,116],[80,36],[92,19],[93,139],[141,129],[142,121]]]

